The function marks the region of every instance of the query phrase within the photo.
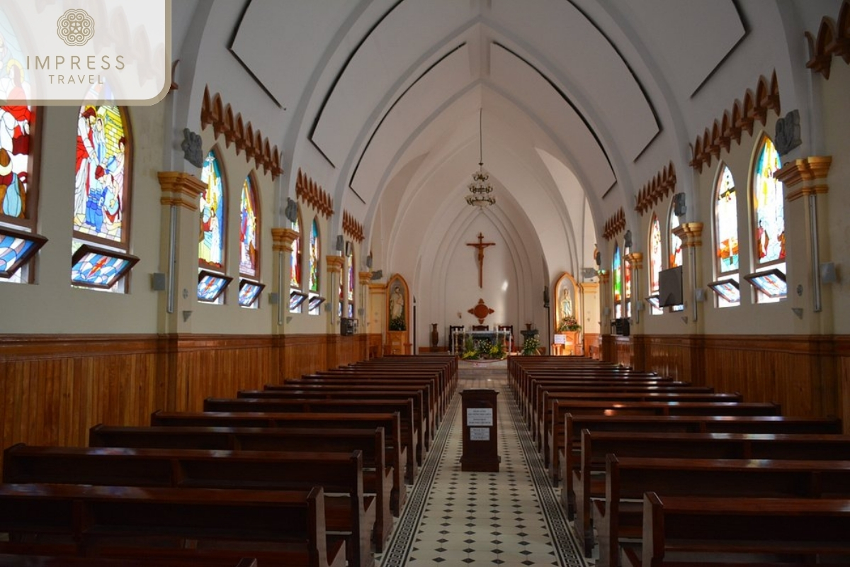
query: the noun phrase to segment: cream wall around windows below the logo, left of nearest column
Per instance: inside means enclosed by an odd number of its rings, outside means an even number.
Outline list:
[[[0,285],[3,333],[156,333],[158,292],[150,274],[159,265],[163,104],[129,109],[133,132],[130,252],[139,257],[129,293],[71,287],[71,211],[77,151],[77,107],[42,108],[42,167],[36,284]]]

